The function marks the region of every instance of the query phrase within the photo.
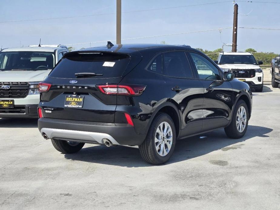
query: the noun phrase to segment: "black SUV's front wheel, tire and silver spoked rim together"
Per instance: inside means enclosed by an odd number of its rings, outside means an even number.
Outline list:
[[[232,121],[225,128],[225,134],[232,139],[242,138],[247,131],[248,120],[248,107],[244,100],[239,100],[235,105]]]

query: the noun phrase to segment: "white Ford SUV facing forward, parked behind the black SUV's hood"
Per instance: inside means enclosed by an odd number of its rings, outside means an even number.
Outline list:
[[[228,52],[220,53],[216,64],[223,70],[235,74],[235,78],[246,82],[250,88],[257,92],[263,89],[263,72],[258,65],[262,61],[256,61],[251,53],[247,52]]]

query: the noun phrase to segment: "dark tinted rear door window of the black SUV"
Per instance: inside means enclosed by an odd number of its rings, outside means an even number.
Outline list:
[[[185,52],[164,53],[163,74],[169,77],[193,78]]]

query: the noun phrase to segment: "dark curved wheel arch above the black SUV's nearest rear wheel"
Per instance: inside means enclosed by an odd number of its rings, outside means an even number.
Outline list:
[[[170,102],[167,101],[165,103],[162,103],[155,109],[155,111],[153,112],[153,114],[149,120],[148,126],[146,128],[146,132],[148,133],[148,130],[149,130],[153,120],[155,119],[155,117],[161,113],[166,113],[172,118],[172,120],[175,124],[176,136],[178,137],[180,134],[180,131],[181,131],[181,129],[180,129],[181,128],[181,116],[178,111],[178,107],[174,103],[172,103],[172,100],[170,100]]]

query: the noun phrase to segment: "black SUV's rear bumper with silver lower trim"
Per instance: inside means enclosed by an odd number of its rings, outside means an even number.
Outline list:
[[[95,123],[88,121],[40,118],[38,129],[48,138],[104,144],[109,139],[115,145],[141,145],[146,134],[138,134],[133,126],[124,123]]]

